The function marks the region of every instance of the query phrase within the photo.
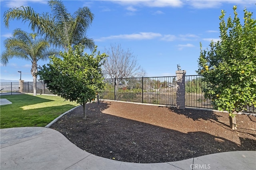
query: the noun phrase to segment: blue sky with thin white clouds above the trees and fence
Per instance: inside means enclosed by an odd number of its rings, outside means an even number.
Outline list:
[[[11,20],[7,29],[3,15],[12,7],[31,6],[36,12],[50,12],[45,0],[1,0],[1,53],[3,42],[16,28],[32,32],[27,23]],[[138,63],[146,71],[146,76],[174,76],[177,64],[186,75],[196,75],[200,42],[203,48],[211,40],[219,39],[219,16],[226,11],[226,18],[233,16],[237,5],[238,17],[242,20],[244,8],[256,13],[256,0],[65,0],[64,5],[73,14],[79,7],[88,6],[94,20],[87,35],[93,38],[98,50],[104,52],[111,44],[120,44],[130,49]],[[90,51],[87,51],[90,53]],[[43,65],[49,61],[39,61]],[[13,58],[7,66],[1,64],[1,79],[32,81],[30,61]]]

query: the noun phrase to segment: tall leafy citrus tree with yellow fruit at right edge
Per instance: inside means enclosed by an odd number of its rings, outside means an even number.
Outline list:
[[[244,9],[244,24],[240,23],[236,6],[234,18],[224,20],[220,15],[220,41],[210,43],[210,49],[202,50],[198,61],[198,73],[207,82],[206,97],[214,107],[228,111],[230,128],[236,129],[236,113],[246,105],[256,105],[256,20],[252,12]]]

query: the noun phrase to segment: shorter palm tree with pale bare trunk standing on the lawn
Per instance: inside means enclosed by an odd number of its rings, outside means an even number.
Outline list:
[[[33,76],[33,90],[36,95],[36,78],[38,72],[37,62],[47,60],[50,55],[58,52],[49,49],[50,43],[46,40],[36,39],[36,34],[29,34],[19,28],[14,30],[13,36],[4,40],[5,51],[1,55],[1,63],[7,65],[9,59],[16,57],[31,61],[31,74]]]

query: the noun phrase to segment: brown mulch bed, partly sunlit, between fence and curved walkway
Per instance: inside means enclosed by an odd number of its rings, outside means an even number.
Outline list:
[[[88,103],[50,128],[94,155],[124,162],[157,163],[218,152],[256,150],[256,117],[116,101]]]

